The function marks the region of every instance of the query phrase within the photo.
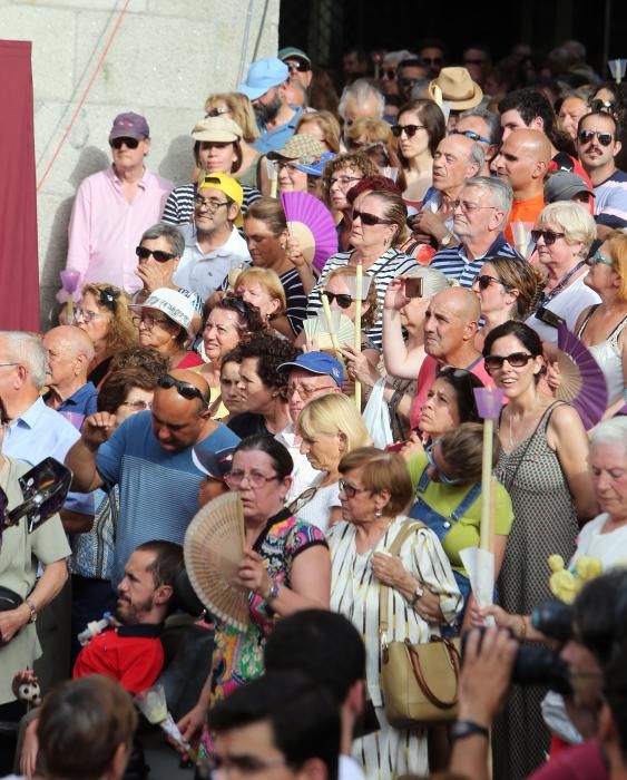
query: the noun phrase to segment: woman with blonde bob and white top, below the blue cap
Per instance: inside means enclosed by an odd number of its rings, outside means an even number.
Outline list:
[[[292,501],[290,510],[326,532],[341,519],[340,461],[370,443],[370,433],[354,401],[330,392],[305,403],[296,421],[296,436],[301,454],[320,475]]]

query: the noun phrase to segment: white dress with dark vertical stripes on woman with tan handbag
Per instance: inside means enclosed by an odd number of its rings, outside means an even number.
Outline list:
[[[331,608],[345,615],[360,632],[366,649],[366,686],[375,708],[380,730],[353,742],[353,757],[368,780],[392,780],[399,774],[428,774],[427,729],[395,729],[388,722],[380,685],[381,645],[379,638],[380,582],[370,566],[373,553],[385,553],[408,518],[396,517],[376,545],[356,552],[355,526],[341,521],[327,533],[332,558]],[[430,591],[440,594],[440,607],[451,623],[461,610],[461,594],[449,559],[433,532],[417,525],[400,552],[403,566]],[[427,624],[405,598],[389,591],[390,625],[388,638],[412,644],[429,642],[440,634],[439,626]]]

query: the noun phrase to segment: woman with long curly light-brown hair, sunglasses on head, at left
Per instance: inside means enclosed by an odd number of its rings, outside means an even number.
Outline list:
[[[94,344],[96,357],[87,381],[96,386],[107,376],[114,354],[137,343],[129,304],[127,293],[112,284],[98,282],[82,287],[74,324],[84,330]]]

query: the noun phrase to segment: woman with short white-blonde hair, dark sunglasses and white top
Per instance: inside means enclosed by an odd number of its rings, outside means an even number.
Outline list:
[[[589,211],[574,201],[558,201],[545,206],[538,216],[531,237],[538,261],[547,272],[547,283],[538,304],[565,320],[574,331],[579,314],[596,303],[599,295],[586,283],[586,259],[597,237],[597,225]],[[536,314],[527,320],[542,339],[557,341],[557,330]]]

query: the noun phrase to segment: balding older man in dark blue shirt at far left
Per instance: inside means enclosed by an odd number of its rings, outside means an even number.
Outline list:
[[[80,328],[60,325],[49,330],[41,343],[46,350],[48,386],[45,403],[60,412],[94,415],[98,390],[87,381],[89,363],[94,360],[91,339]]]

